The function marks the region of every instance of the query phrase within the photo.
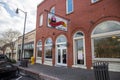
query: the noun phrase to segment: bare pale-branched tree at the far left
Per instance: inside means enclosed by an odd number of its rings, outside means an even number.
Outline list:
[[[2,50],[3,53],[6,49],[6,47],[10,47],[11,54],[13,54],[13,50],[15,47],[15,41],[18,39],[18,37],[21,35],[19,31],[8,29],[0,34],[0,44],[2,44]],[[13,58],[13,55],[12,55]]]

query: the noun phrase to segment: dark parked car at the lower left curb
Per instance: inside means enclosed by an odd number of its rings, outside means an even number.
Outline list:
[[[10,62],[0,61],[0,80],[10,80],[19,74],[19,69]]]

